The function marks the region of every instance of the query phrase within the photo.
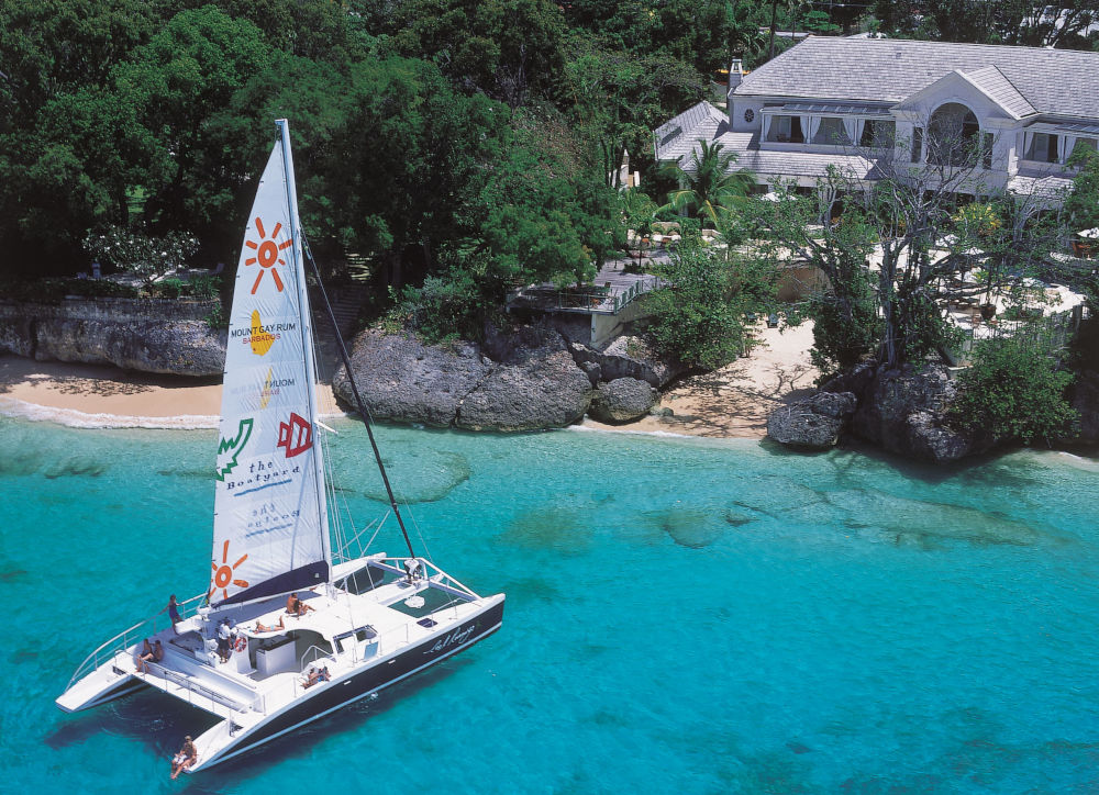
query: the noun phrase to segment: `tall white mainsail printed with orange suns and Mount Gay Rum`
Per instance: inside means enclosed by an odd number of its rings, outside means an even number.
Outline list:
[[[212,605],[326,582],[312,329],[285,121],[248,215],[221,399]]]

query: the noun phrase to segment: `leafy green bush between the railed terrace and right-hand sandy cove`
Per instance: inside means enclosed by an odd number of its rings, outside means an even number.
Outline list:
[[[715,369],[750,345],[747,312],[775,303],[773,262],[729,255],[685,237],[660,266],[667,287],[645,296],[654,320],[648,333],[658,350],[692,367]]]

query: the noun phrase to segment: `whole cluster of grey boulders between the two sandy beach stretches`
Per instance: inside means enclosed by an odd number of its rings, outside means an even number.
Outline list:
[[[597,350],[547,325],[490,328],[484,344],[442,345],[368,329],[355,338],[351,363],[377,419],[501,432],[565,427],[585,414],[628,423],[647,414],[658,390],[685,371],[637,337]],[[344,368],[332,385],[355,405]]]

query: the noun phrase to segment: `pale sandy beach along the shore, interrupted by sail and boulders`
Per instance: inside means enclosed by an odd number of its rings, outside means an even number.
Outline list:
[[[585,427],[634,433],[763,438],[767,414],[810,390],[812,328],[756,329],[751,356],[666,392],[671,416],[648,416]],[[321,394],[322,413],[336,414],[331,389]],[[0,356],[0,413],[82,427],[215,427],[221,379],[125,372],[100,365],[68,365]]]

